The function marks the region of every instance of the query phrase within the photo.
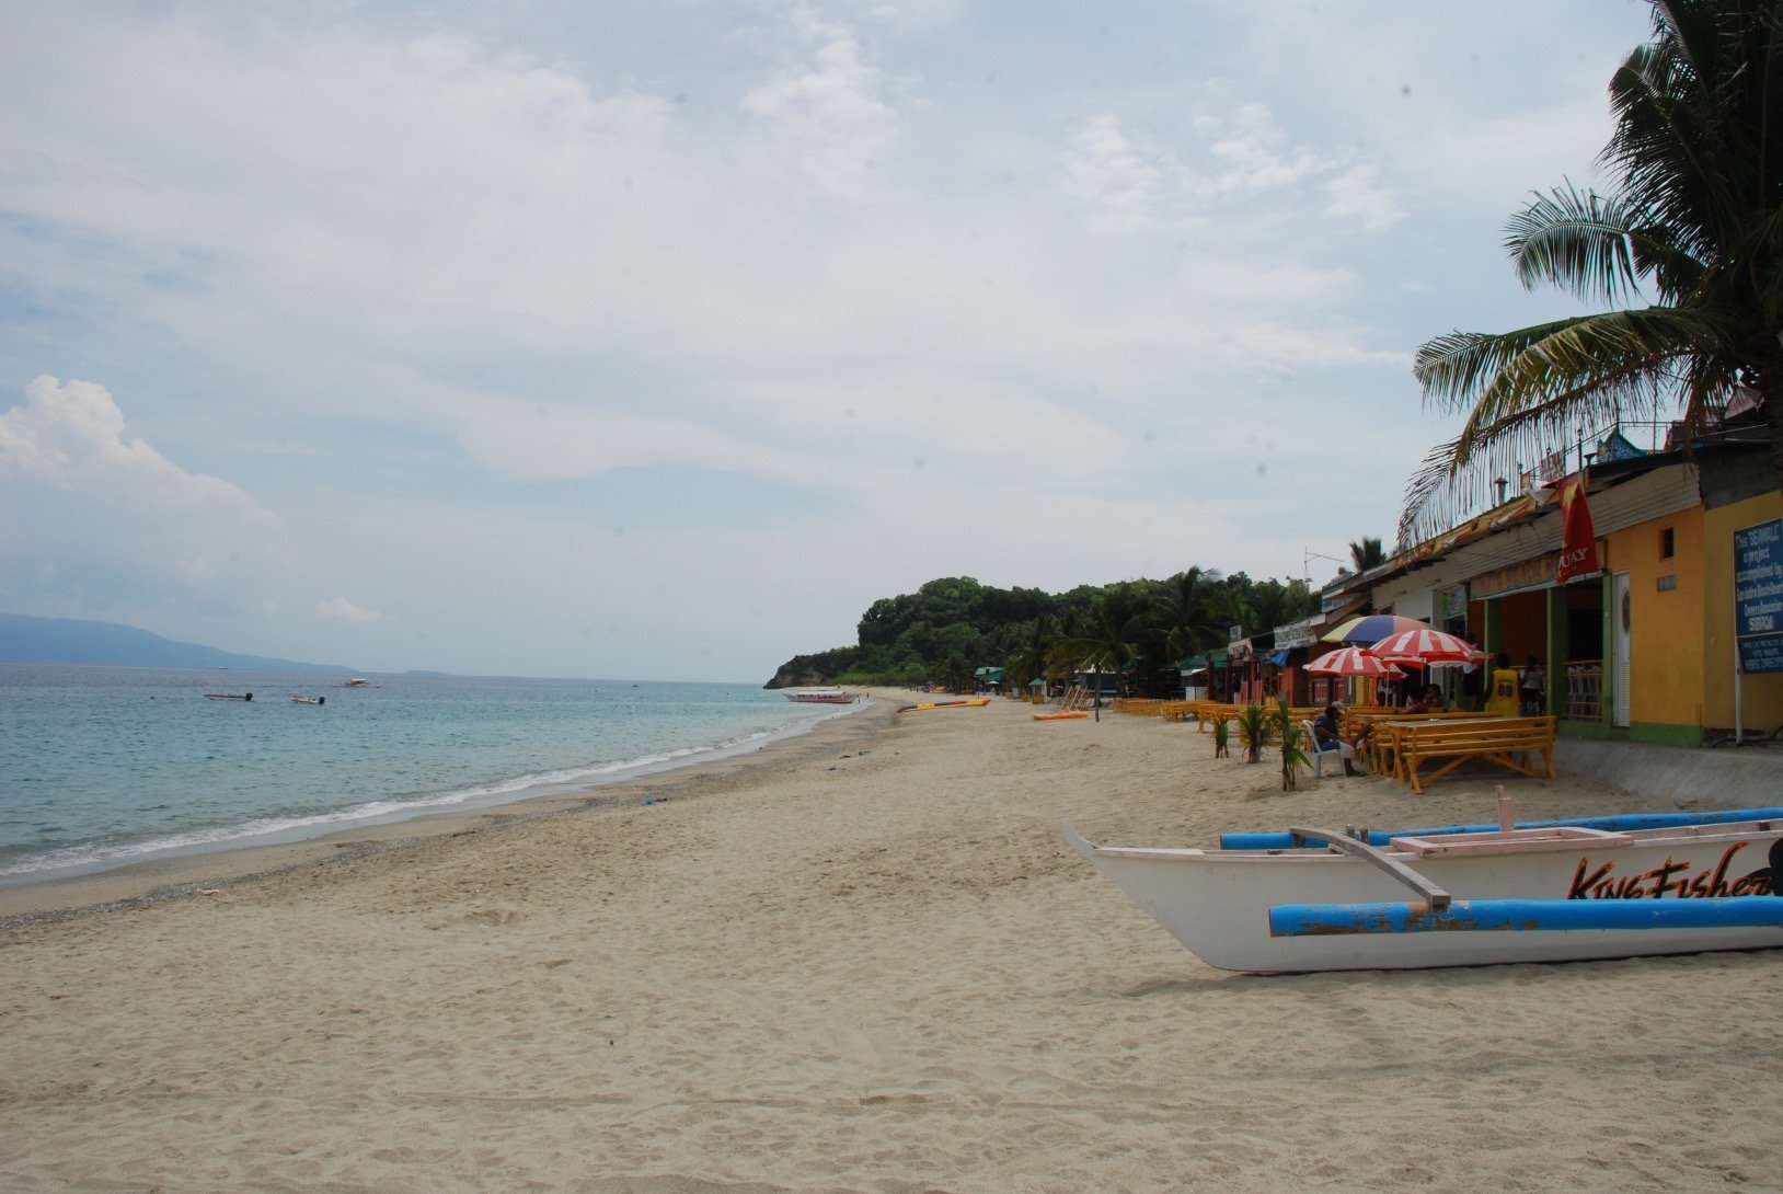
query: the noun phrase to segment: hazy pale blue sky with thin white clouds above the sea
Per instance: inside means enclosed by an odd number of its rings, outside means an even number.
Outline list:
[[[941,576],[1328,581],[1578,310],[1631,0],[0,0],[0,609],[763,683]]]

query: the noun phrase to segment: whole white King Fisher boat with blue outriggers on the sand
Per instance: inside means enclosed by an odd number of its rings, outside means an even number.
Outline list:
[[[1403,830],[1220,850],[1064,839],[1209,966],[1259,973],[1783,946],[1783,807]]]

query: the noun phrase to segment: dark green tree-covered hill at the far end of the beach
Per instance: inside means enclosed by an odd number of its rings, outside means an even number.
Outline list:
[[[1305,581],[1252,581],[1205,568],[1066,593],[947,576],[875,601],[852,647],[793,656],[767,686],[933,683],[959,690],[972,686],[977,668],[995,667],[1004,668],[1009,690],[1097,661],[1127,672],[1139,691],[1170,691],[1177,661],[1225,645],[1228,627],[1261,633],[1316,609]]]

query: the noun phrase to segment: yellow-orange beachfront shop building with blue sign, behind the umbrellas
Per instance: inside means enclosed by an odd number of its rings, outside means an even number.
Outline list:
[[[1692,451],[1599,442],[1567,542],[1567,478],[1325,586],[1542,668],[1562,734],[1672,745],[1783,727],[1783,494],[1753,438]],[[1574,474],[1580,478],[1580,474]],[[1578,533],[1580,511],[1573,511]],[[1585,563],[1567,574],[1562,563]],[[1476,699],[1471,675],[1446,683]]]

